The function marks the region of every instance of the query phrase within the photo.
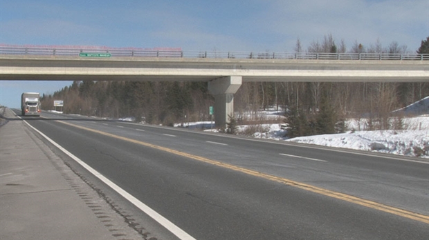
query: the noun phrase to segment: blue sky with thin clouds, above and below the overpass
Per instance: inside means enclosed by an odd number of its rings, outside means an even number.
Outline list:
[[[53,1],[0,0],[0,43],[183,50],[293,52],[332,34],[409,51],[429,36],[429,0]],[[53,93],[69,81],[0,81],[0,104],[21,92]]]

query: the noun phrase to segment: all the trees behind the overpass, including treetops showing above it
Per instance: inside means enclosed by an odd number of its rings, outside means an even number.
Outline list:
[[[429,53],[429,37],[418,53]],[[313,41],[303,50],[297,39],[295,52],[347,52],[331,34]],[[405,53],[406,46],[393,41],[383,48],[380,41],[363,46],[357,41],[348,52]],[[235,94],[237,124],[260,121],[257,112],[266,108],[284,110],[290,137],[340,132],[345,118],[374,119],[374,129],[390,127],[391,112],[429,96],[429,81],[423,83],[314,83],[244,82]],[[73,81],[53,94],[43,94],[42,106],[53,108],[64,100],[64,113],[106,118],[134,117],[136,121],[171,126],[186,121],[210,120],[214,98],[206,82],[177,81]],[[376,120],[376,121],[375,121]],[[372,124],[372,123],[371,123]]]

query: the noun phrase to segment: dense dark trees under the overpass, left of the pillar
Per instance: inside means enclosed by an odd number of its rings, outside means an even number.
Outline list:
[[[71,86],[42,96],[42,106],[64,100],[64,113],[172,125],[208,118],[214,100],[206,82],[73,81]]]

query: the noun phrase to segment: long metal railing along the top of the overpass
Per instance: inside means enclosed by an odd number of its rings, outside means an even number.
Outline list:
[[[414,60],[427,61],[429,54],[413,53],[313,53],[313,52],[221,52],[182,51],[175,48],[52,48],[0,46],[0,54],[80,56],[82,52],[99,53],[104,57],[176,57],[210,59],[305,59],[305,60]],[[108,53],[108,54],[102,54]]]

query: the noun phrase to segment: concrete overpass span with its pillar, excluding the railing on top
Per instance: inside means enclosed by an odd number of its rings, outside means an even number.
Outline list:
[[[225,127],[245,81],[427,82],[427,61],[288,59],[87,59],[0,54],[0,80],[207,81],[215,120]]]

